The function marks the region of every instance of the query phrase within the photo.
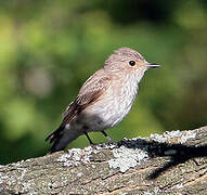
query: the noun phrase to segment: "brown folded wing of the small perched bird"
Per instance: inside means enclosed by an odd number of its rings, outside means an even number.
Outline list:
[[[82,109],[105,93],[111,84],[111,78],[103,74],[103,69],[101,70],[96,72],[85,82],[78,96],[66,108],[62,127],[69,123]]]

